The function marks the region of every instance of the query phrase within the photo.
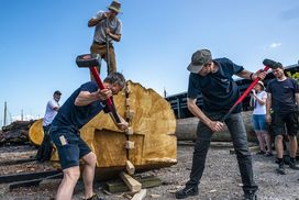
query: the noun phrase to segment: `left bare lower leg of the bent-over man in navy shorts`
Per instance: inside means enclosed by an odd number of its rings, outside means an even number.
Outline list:
[[[70,200],[74,188],[80,177],[79,166],[64,169],[64,178],[57,190],[56,200]]]

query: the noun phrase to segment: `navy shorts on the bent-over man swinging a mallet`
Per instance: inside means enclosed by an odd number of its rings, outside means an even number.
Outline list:
[[[79,166],[79,159],[91,152],[86,142],[74,132],[57,130],[51,132],[51,138],[58,151],[63,169]]]

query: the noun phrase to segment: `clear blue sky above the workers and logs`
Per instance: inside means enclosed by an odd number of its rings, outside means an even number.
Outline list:
[[[60,103],[89,80],[75,58],[89,53],[88,20],[110,0],[1,0],[0,125],[9,116],[42,118],[54,90]],[[246,69],[272,58],[299,59],[299,1],[122,0],[122,41],[114,43],[118,70],[163,95],[187,90],[191,54],[209,48]],[[102,73],[106,71],[103,67]],[[104,76],[102,76],[104,78]]]

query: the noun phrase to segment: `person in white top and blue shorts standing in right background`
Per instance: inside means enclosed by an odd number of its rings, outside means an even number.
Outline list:
[[[250,101],[251,107],[254,108],[252,121],[259,143],[259,152],[257,152],[257,154],[273,156],[270,135],[267,132],[266,124],[266,99],[267,92],[265,91],[265,86],[263,81],[259,80],[253,89]],[[265,147],[265,143],[267,145],[267,149]]]

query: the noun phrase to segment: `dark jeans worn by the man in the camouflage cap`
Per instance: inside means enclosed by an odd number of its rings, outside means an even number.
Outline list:
[[[219,121],[225,113],[206,113],[206,115]],[[246,130],[241,113],[231,114],[225,124],[232,136],[234,149],[236,153],[239,169],[242,177],[244,192],[257,190],[257,185],[253,177],[252,155],[247,146]],[[199,122],[197,129],[197,141],[195,145],[192,169],[190,180],[186,184],[190,187],[198,187],[204,169],[206,157],[208,148],[210,147],[211,136],[213,132],[203,123]]]

